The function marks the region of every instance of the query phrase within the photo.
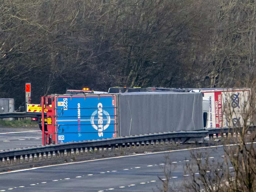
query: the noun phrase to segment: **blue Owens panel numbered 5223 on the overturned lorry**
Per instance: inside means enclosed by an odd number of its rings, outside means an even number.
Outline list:
[[[115,97],[55,96],[57,143],[116,137]]]

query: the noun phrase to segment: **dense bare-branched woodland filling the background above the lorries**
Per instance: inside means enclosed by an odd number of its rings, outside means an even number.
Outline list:
[[[253,87],[255,41],[254,0],[0,0],[0,98]]]

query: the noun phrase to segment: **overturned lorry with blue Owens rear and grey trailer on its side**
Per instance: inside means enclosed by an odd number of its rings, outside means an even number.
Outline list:
[[[202,93],[173,91],[52,94],[41,98],[41,106],[47,110],[42,119],[45,145],[202,130],[209,100]]]

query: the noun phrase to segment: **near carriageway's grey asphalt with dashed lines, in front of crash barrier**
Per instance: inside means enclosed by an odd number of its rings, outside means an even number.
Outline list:
[[[222,159],[222,147],[197,150],[208,151],[211,159]],[[184,178],[188,178],[184,175],[183,167],[189,162],[190,150],[144,153],[3,173],[0,174],[0,192],[159,191],[162,181],[158,177],[165,179],[163,167],[166,155],[175,167],[170,182],[180,188]]]

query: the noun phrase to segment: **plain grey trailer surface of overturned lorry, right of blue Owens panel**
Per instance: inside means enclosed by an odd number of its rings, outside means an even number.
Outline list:
[[[203,129],[201,93],[120,93],[120,136]]]

